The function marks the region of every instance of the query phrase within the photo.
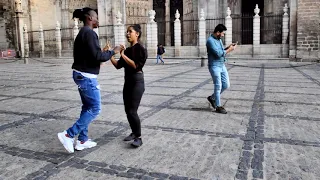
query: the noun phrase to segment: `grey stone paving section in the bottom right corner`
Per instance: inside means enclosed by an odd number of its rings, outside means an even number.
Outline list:
[[[319,179],[320,149],[266,143],[266,179]]]

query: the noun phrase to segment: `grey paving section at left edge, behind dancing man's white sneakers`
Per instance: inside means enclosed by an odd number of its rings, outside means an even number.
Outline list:
[[[64,153],[57,133],[70,127],[74,122],[56,119],[36,119],[14,129],[2,131],[1,145],[18,147],[36,152]],[[36,127],[36,128],[35,128]],[[114,127],[92,124],[89,136],[98,138]]]

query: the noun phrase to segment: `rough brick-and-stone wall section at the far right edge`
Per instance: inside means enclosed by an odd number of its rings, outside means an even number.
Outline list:
[[[319,0],[298,0],[297,58],[319,58],[319,9]]]

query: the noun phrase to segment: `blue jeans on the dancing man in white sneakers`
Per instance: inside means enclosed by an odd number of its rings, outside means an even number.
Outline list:
[[[88,140],[88,127],[101,111],[100,87],[96,78],[86,78],[81,73],[73,71],[73,80],[78,85],[82,101],[80,118],[67,130],[70,137],[79,134],[78,140]]]

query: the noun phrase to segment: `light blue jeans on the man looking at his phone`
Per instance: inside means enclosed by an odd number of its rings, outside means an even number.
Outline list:
[[[214,92],[211,98],[215,99],[216,106],[221,106],[220,94],[230,87],[229,75],[224,63],[217,63],[209,66],[209,71],[213,80]]]

